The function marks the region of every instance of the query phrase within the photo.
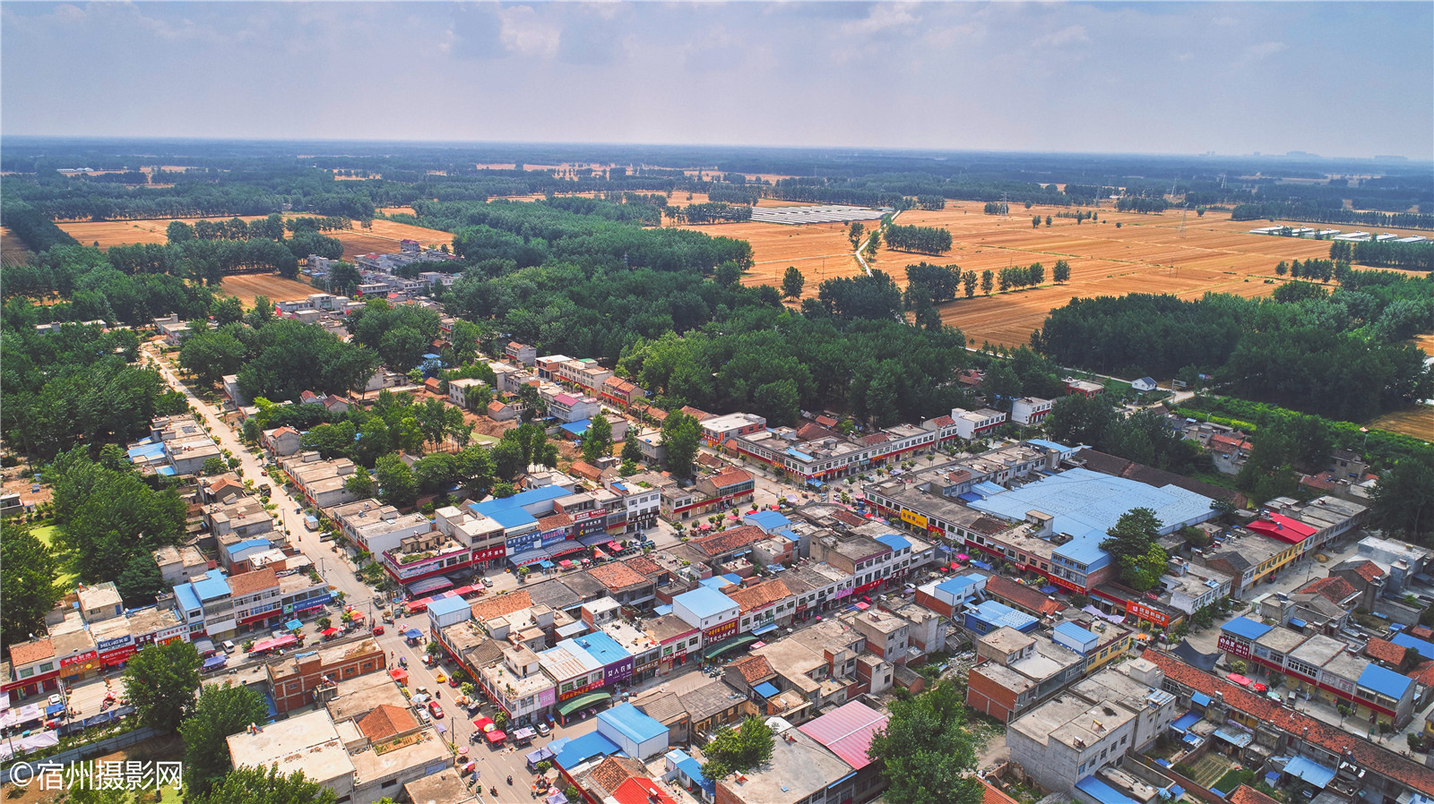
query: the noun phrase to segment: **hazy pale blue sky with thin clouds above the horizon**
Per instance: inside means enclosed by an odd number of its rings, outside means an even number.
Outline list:
[[[1434,3],[0,3],[0,133],[1434,158]]]

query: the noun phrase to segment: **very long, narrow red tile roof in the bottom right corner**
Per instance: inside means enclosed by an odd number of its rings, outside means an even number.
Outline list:
[[[1286,734],[1302,735],[1308,742],[1331,754],[1345,755],[1348,752],[1357,765],[1412,787],[1424,795],[1434,795],[1434,768],[1427,768],[1408,757],[1401,757],[1361,737],[1286,709],[1263,695],[1256,695],[1243,686],[1215,678],[1169,654],[1147,649],[1143,658],[1154,662],[1164,671],[1166,678],[1170,681],[1180,682],[1206,695],[1219,694],[1225,698],[1225,704],[1238,712],[1265,721]]]

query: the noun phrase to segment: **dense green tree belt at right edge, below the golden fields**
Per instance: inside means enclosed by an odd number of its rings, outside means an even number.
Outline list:
[[[1073,300],[1051,311],[1031,343],[1063,365],[1190,380],[1210,374],[1235,396],[1362,421],[1430,396],[1423,353],[1404,338],[1434,325],[1431,289],[1420,279],[1381,294],[1326,295],[1304,284],[1271,300]]]

